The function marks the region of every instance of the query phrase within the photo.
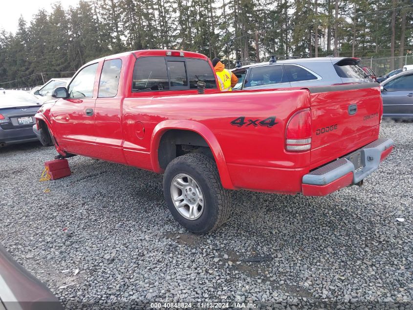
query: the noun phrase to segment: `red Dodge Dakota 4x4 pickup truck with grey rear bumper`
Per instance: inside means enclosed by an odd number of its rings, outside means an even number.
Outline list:
[[[171,213],[195,233],[228,218],[228,190],[327,195],[361,185],[393,148],[378,138],[377,83],[221,93],[209,59],[188,51],[97,59],[52,96],[33,128],[44,145],[164,173]]]

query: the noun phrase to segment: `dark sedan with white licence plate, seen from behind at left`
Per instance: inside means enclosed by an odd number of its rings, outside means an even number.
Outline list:
[[[38,141],[33,132],[39,100],[25,91],[0,91],[0,147]]]

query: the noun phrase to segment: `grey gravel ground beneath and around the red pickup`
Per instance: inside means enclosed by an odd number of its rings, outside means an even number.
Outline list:
[[[0,243],[70,309],[412,309],[413,123],[384,122],[381,136],[396,148],[362,187],[236,191],[228,223],[205,236],[174,221],[161,175],[77,156],[70,177],[39,182],[55,150],[10,146],[0,149]]]

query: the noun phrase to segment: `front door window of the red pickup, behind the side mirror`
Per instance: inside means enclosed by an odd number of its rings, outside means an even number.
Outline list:
[[[93,85],[97,68],[97,63],[87,66],[75,76],[68,89],[70,98],[93,97]]]

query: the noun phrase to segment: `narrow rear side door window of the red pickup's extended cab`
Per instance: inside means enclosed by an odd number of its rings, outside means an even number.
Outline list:
[[[103,64],[102,74],[99,82],[100,98],[114,97],[118,93],[119,75],[122,68],[122,60],[107,60]]]

